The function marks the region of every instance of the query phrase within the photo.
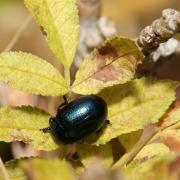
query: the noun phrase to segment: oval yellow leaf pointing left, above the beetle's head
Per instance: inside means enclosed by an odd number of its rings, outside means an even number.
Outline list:
[[[0,81],[44,96],[60,96],[68,91],[66,81],[51,64],[22,52],[0,54]]]

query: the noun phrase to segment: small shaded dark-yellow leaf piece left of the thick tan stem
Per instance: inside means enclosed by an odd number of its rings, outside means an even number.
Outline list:
[[[119,136],[119,141],[121,142],[122,146],[126,149],[126,151],[130,151],[131,148],[138,142],[143,130],[138,130],[131,132],[129,134],[123,134]]]

